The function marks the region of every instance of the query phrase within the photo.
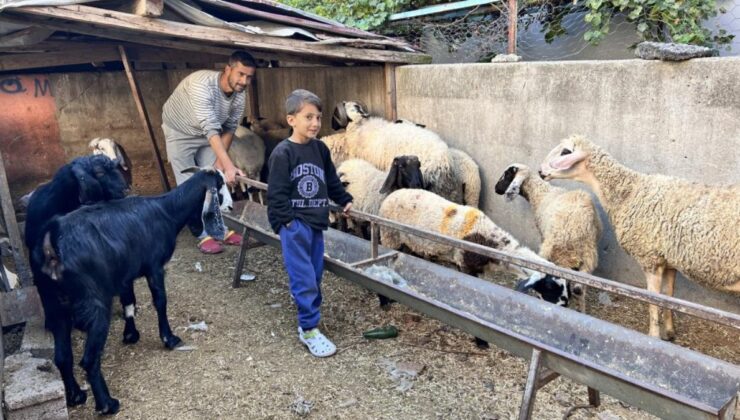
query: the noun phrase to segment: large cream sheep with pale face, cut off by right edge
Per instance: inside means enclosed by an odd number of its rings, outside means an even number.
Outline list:
[[[629,169],[583,136],[543,161],[545,180],[573,179],[601,201],[617,240],[642,267],[647,289],[673,295],[676,271],[704,286],[740,293],[740,185],[710,186]],[[675,337],[673,316],[650,305],[649,334]]]

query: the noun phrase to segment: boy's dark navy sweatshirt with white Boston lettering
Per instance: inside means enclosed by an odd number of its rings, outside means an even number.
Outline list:
[[[270,155],[267,216],[275,232],[293,219],[314,229],[329,227],[329,199],[340,206],[352,201],[344,190],[326,145],[283,140]]]

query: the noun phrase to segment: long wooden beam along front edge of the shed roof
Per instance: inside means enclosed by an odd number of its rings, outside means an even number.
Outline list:
[[[365,50],[358,48],[317,45],[315,42],[283,39],[279,37],[255,35],[232,29],[210,28],[164,19],[149,19],[113,10],[100,9],[84,5],[55,7],[21,7],[6,10],[5,13],[24,16],[39,16],[67,22],[94,25],[98,28],[109,28],[129,31],[141,38],[161,36],[177,38],[199,43],[214,43],[238,48],[249,48],[268,52],[282,52],[295,55],[322,56],[341,61],[370,61],[392,63],[429,63],[431,57],[420,53]]]

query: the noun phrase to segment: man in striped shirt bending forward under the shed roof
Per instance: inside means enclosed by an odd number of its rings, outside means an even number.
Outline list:
[[[223,71],[196,71],[183,79],[167,99],[162,109],[162,130],[177,185],[191,176],[182,173],[191,166],[215,166],[230,185],[237,175],[244,176],[229,158],[228,150],[244,113],[245,90],[256,67],[248,52],[235,51]],[[223,251],[223,246],[205,232],[199,239],[202,252]],[[241,241],[241,235],[234,231],[224,239],[228,245],[241,245]]]

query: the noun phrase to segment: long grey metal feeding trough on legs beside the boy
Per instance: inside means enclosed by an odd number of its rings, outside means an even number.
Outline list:
[[[236,203],[227,224],[246,237],[280,246],[266,207]],[[373,229],[375,233],[375,229]],[[239,285],[247,240],[237,263]],[[520,419],[531,415],[537,389],[558,375],[670,419],[732,419],[740,367],[591,316],[545,303],[487,281],[333,229],[325,266],[337,275],[531,360]],[[365,272],[386,266],[405,284]]]

